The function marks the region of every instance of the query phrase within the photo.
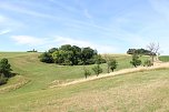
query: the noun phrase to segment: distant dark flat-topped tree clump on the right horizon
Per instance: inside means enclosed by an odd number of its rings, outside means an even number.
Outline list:
[[[141,55],[156,55],[153,51],[146,50],[146,49],[129,49],[127,51],[128,54],[141,54]]]

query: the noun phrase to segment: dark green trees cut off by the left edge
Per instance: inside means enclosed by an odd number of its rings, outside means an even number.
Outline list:
[[[7,83],[8,79],[13,75],[11,71],[12,69],[8,59],[0,60],[0,85]]]

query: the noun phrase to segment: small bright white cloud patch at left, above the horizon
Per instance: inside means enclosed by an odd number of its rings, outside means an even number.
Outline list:
[[[11,39],[13,39],[18,44],[27,44],[27,45],[44,44],[44,39],[39,39],[30,35],[12,35]]]

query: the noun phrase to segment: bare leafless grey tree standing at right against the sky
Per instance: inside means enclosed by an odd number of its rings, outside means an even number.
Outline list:
[[[149,43],[149,44],[147,45],[147,48],[148,48],[148,50],[151,52],[151,53],[150,53],[150,57],[151,57],[151,61],[152,61],[152,63],[153,63],[155,57],[156,57],[157,54],[159,54],[160,45],[159,45],[159,43],[156,44],[155,42],[151,42],[151,43]]]

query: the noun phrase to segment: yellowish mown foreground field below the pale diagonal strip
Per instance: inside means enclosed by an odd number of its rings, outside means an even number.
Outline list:
[[[138,72],[64,88],[0,94],[0,109],[1,112],[168,112],[168,72]]]

